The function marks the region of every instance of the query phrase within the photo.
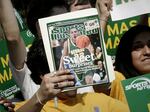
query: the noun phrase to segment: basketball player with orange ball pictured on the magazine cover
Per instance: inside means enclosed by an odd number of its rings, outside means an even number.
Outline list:
[[[94,48],[88,36],[81,35],[76,28],[70,29],[70,38],[64,42],[63,53],[60,61],[59,70],[64,69],[63,57],[68,56],[71,51],[79,51],[79,49],[86,48],[88,52],[94,54]]]

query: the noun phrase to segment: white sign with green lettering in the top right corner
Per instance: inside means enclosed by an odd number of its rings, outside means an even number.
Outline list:
[[[150,13],[150,0],[113,0],[113,21]]]

